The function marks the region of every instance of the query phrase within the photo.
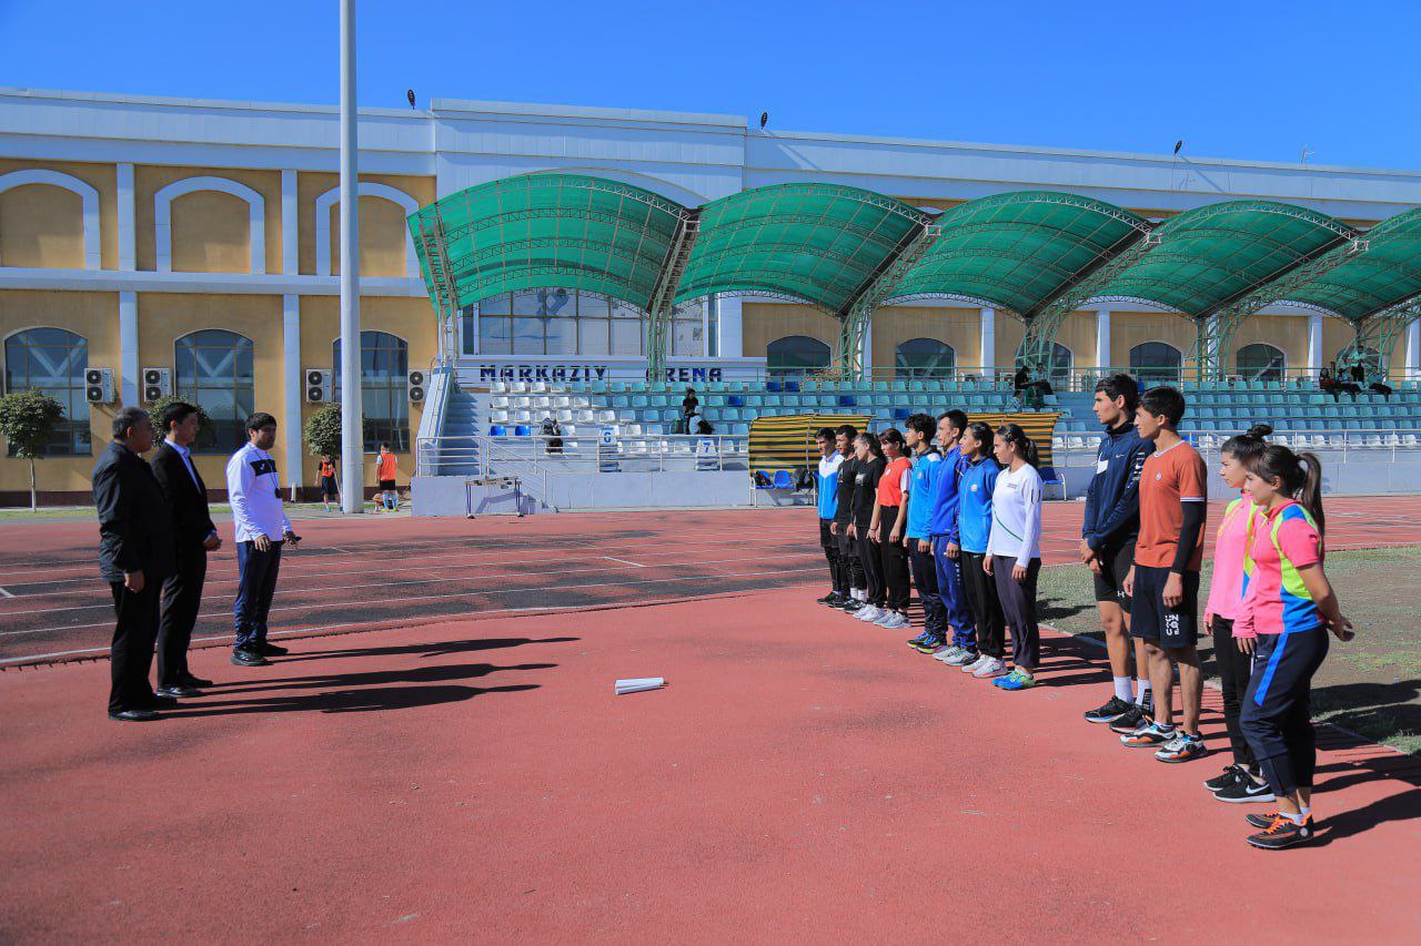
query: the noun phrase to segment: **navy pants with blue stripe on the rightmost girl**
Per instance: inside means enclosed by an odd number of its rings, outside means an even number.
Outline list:
[[[1310,713],[1312,685],[1327,646],[1323,626],[1258,635],[1239,729],[1275,795],[1313,787],[1317,737]]]

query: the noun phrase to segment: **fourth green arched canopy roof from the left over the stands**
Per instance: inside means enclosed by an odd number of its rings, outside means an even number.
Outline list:
[[[1155,227],[1160,246],[1111,280],[1103,297],[1141,298],[1201,318],[1353,239],[1347,224],[1270,200],[1228,200]]]

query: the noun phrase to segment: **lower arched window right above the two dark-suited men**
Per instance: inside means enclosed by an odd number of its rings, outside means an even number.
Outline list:
[[[173,342],[173,391],[212,418],[213,439],[198,453],[230,453],[247,440],[247,418],[257,409],[253,345],[226,328],[203,328]]]

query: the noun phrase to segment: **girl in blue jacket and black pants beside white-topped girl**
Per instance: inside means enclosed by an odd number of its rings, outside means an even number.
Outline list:
[[[983,568],[988,540],[992,535],[992,491],[1002,470],[992,456],[992,428],[980,420],[968,425],[961,440],[966,467],[958,483],[958,557],[962,570],[962,594],[972,609],[978,658],[962,665],[963,673],[993,675],[989,665],[1005,668],[1006,635],[1002,602],[996,582]],[[988,668],[988,669],[983,669]]]

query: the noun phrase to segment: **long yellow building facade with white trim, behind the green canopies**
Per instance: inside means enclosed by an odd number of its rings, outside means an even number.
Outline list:
[[[831,182],[945,209],[1020,189],[1070,190],[1145,217],[1259,197],[1370,226],[1421,203],[1421,173],[747,128],[740,116],[435,99],[362,109],[360,260],[362,388],[371,445],[389,440],[402,477],[422,408],[409,372],[442,354],[499,372],[556,368],[637,376],[641,314],[564,290],[483,300],[441,332],[418,274],[406,216],[497,178],[581,172],[684,205],[746,187]],[[121,403],[142,403],[145,371],[213,416],[198,462],[220,483],[246,413],[281,425],[293,486],[315,459],[300,429],[318,402],[307,372],[338,372],[338,114],[333,107],[0,89],[0,341],[4,389],[40,388],[67,409],[41,463],[41,490],[74,499]],[[1421,366],[1411,331],[1391,352]],[[946,300],[874,315],[865,364],[880,371],[1009,368],[1022,324]],[[836,357],[838,325],[813,307],[719,297],[676,312],[671,365],[695,372],[813,366]],[[1142,303],[1091,305],[1057,337],[1057,364],[1188,366],[1194,325]],[[1239,368],[1316,369],[1351,342],[1349,325],[1287,305],[1263,310],[1233,342]],[[445,351],[441,351],[441,349]],[[85,374],[112,398],[91,403]],[[338,388],[338,378],[335,388]],[[0,501],[28,487],[0,460]]]

